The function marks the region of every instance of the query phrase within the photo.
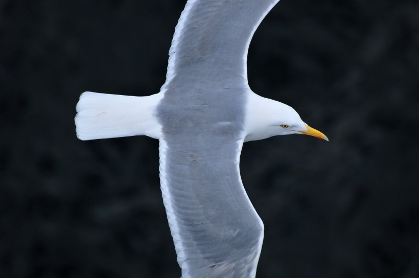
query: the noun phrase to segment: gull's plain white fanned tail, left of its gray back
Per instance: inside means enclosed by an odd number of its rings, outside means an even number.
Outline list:
[[[162,93],[132,97],[86,91],[77,103],[76,133],[80,140],[148,135],[159,138],[155,117]]]

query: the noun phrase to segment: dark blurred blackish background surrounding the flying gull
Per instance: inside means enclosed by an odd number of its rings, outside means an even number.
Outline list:
[[[82,142],[90,90],[155,94],[185,1],[0,1],[0,277],[179,277],[158,142]],[[244,145],[258,277],[419,277],[419,2],[282,0],[253,91],[330,142]]]

